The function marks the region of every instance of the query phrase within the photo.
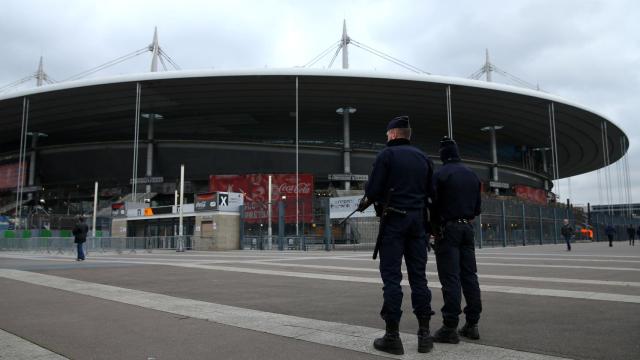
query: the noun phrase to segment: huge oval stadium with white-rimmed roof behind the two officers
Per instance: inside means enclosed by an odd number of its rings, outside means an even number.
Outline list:
[[[555,200],[553,180],[628,148],[621,128],[583,105],[488,81],[310,68],[139,73],[0,97],[0,212],[90,213],[94,182],[103,210],[172,205],[181,165],[187,202],[223,190],[212,180],[222,175],[305,174],[316,197],[360,194],[398,115],[436,165],[451,136],[485,192],[539,204]]]

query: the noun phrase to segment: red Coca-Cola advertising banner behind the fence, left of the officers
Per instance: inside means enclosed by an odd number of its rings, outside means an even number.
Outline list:
[[[296,198],[298,203],[298,220],[311,222],[313,219],[313,175],[271,174],[272,221],[278,221],[278,201],[284,200],[285,222],[296,222]],[[266,222],[269,202],[269,174],[247,175],[211,175],[209,191],[228,191],[244,194],[245,221]]]

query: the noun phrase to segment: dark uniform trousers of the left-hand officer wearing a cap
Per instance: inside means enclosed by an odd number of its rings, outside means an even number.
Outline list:
[[[384,303],[380,316],[386,321],[400,321],[402,316],[402,257],[404,255],[414,314],[430,317],[431,291],[427,287],[427,237],[422,210],[406,215],[391,212],[384,219],[380,244],[380,275],[384,283]]]

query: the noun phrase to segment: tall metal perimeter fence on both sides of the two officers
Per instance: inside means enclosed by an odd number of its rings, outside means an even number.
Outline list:
[[[324,201],[326,200],[326,201]],[[267,205],[264,204],[264,207]],[[379,219],[375,217],[329,219],[328,199],[314,201],[313,217],[297,225],[285,221],[290,213],[279,211],[292,203],[272,204],[271,249],[309,250],[373,250],[378,235]],[[302,216],[301,216],[302,217]],[[626,229],[638,229],[640,219],[595,214],[588,218],[581,210],[564,204],[537,205],[513,198],[483,197],[482,214],[473,222],[477,247],[527,246],[564,242],[560,235],[563,219],[575,228],[574,241],[604,241],[604,228],[616,229],[616,240],[627,240]],[[243,249],[269,249],[268,217],[251,219],[241,224]],[[283,229],[282,231],[280,229]],[[580,229],[585,229],[580,232]],[[592,236],[589,236],[591,230]]]

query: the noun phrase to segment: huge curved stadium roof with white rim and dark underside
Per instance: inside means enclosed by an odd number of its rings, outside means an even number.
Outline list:
[[[133,138],[136,83],[141,112],[162,114],[156,138],[267,141],[293,138],[299,86],[300,138],[341,138],[336,109],[351,106],[354,143],[383,143],[389,119],[411,117],[414,141],[430,154],[447,134],[445,88],[451,86],[453,136],[464,158],[487,160],[482,127],[502,125],[498,148],[550,147],[549,103],[555,106],[560,177],[603,166],[601,124],[609,157],[622,154],[622,129],[604,116],[560,97],[497,83],[434,75],[306,68],[141,73],[57,83],[0,97],[0,152],[19,148],[23,98],[29,131],[47,145]],[[144,133],[143,133],[144,134]],[[144,138],[144,136],[141,136]],[[469,146],[465,146],[469,144]],[[501,159],[499,158],[499,162]]]

